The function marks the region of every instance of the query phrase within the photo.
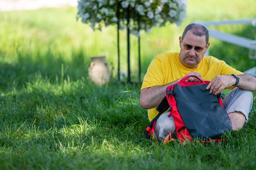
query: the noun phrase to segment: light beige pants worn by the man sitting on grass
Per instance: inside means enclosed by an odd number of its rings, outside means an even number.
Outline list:
[[[235,111],[242,112],[246,117],[245,123],[248,122],[248,115],[253,104],[252,92],[235,87],[222,100],[222,103],[227,113],[233,113]],[[173,116],[168,117],[169,114],[169,112],[164,113],[157,119],[153,135],[158,141],[162,141],[175,130]]]

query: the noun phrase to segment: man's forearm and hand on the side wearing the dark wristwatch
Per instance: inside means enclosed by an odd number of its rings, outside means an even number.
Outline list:
[[[256,91],[256,78],[250,74],[238,75],[239,83],[236,85],[247,91]],[[218,95],[224,88],[234,86],[236,78],[233,75],[217,75],[214,77],[206,89],[210,89],[210,93]]]

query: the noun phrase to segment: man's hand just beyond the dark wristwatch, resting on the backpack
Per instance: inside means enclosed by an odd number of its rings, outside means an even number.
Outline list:
[[[208,84],[206,89],[210,89],[210,93],[218,95],[222,90],[233,86],[236,83],[236,78],[232,75],[217,75]]]

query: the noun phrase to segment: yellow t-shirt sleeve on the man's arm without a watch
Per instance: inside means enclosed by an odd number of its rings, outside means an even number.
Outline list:
[[[158,57],[155,57],[148,66],[141,90],[152,86],[162,86],[164,80],[163,66]]]

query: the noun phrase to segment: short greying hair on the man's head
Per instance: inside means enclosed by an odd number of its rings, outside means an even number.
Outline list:
[[[205,26],[200,25],[200,24],[189,24],[184,29],[184,32],[182,34],[182,40],[184,39],[184,37],[186,36],[186,33],[188,31],[192,31],[192,33],[194,35],[199,36],[199,37],[205,36],[205,42],[206,42],[206,44],[208,44],[208,42],[209,42],[209,31],[207,30],[207,28]]]

